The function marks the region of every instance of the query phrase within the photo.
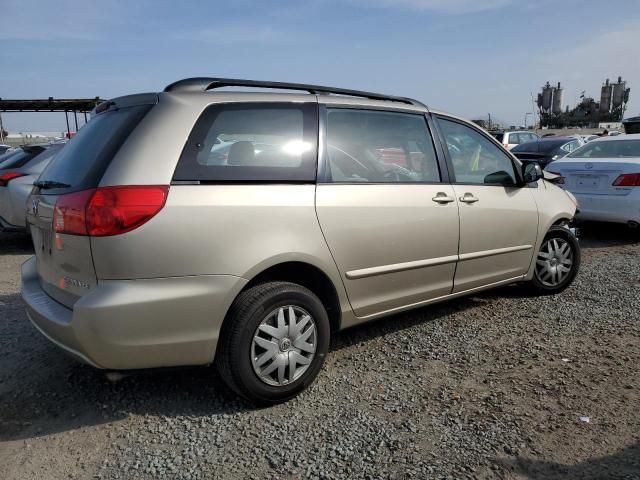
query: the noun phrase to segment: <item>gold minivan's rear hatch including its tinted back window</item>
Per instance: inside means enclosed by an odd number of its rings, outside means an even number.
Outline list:
[[[156,101],[155,94],[110,101],[45,168],[29,197],[27,222],[40,284],[69,308],[95,287],[97,279],[90,237],[55,232],[56,202],[98,186],[111,160]]]

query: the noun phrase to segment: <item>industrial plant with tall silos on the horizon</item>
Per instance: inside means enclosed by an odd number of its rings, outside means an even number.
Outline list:
[[[542,87],[538,94],[538,111],[540,114],[540,126],[551,128],[564,127],[597,127],[600,123],[620,122],[624,117],[629,93],[627,82],[618,77],[616,83],[605,81],[600,90],[600,101],[585,96],[580,96],[580,102],[569,109],[563,110],[563,93],[560,82],[557,86],[549,82]]]

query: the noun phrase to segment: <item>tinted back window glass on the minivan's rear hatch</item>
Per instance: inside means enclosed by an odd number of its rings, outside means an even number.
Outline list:
[[[39,180],[69,185],[64,190],[96,187],[115,154],[151,107],[107,110],[93,117],[60,150]]]

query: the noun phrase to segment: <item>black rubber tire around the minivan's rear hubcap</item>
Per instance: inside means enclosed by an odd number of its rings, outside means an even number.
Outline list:
[[[254,371],[251,346],[256,329],[265,316],[286,305],[300,307],[312,316],[316,326],[316,350],[300,378],[286,385],[273,386],[263,382]],[[220,333],[216,365],[222,379],[238,395],[256,405],[273,405],[295,397],[313,383],[329,350],[329,338],[327,312],[313,292],[295,283],[263,283],[242,292],[233,302]]]

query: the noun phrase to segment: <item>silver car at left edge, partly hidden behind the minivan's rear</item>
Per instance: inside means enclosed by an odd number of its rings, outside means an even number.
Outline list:
[[[21,167],[0,171],[0,231],[25,230],[27,197],[33,182],[64,144],[43,146],[43,150]]]

